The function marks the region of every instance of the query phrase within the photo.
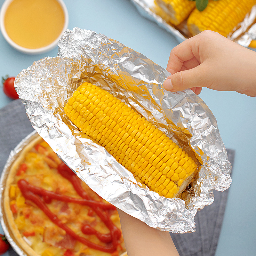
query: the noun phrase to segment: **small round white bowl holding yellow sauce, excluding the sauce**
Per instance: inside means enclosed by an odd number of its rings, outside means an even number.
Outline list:
[[[67,7],[64,4],[64,2],[62,0],[57,0],[63,9],[64,17],[65,17],[64,26],[63,26],[63,29],[62,29],[60,35],[57,37],[57,39],[55,41],[53,41],[51,44],[48,44],[47,46],[37,48],[37,49],[29,49],[29,48],[22,47],[19,44],[16,44],[15,42],[13,42],[5,30],[4,16],[5,16],[5,12],[8,8],[8,6],[12,3],[12,1],[13,0],[5,0],[4,4],[2,5],[1,10],[0,10],[0,30],[1,30],[5,40],[10,45],[12,45],[12,47],[14,47],[16,50],[23,52],[23,53],[27,53],[27,54],[39,54],[39,53],[48,52],[48,51],[52,50],[58,44],[60,37],[63,35],[63,33],[68,28],[68,10],[67,10]]]

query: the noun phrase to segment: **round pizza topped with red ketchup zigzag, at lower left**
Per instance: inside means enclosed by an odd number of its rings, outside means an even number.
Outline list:
[[[12,164],[3,210],[10,234],[29,256],[119,256],[116,208],[92,191],[40,137]]]

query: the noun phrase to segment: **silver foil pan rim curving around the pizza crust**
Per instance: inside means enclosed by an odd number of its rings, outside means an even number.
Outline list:
[[[8,221],[6,220],[6,216],[4,214],[4,189],[7,177],[11,170],[12,164],[17,160],[20,156],[20,152],[22,149],[28,145],[32,140],[34,140],[38,136],[37,132],[30,133],[26,138],[20,141],[20,143],[11,151],[5,165],[4,170],[1,174],[0,179],[0,221],[1,226],[4,230],[4,236],[7,238],[8,242],[11,244],[12,249],[17,252],[20,256],[27,256],[27,254],[19,247],[14,235],[12,234],[12,227],[9,226]]]

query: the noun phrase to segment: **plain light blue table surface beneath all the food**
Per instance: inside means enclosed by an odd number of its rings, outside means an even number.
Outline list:
[[[3,2],[4,0],[0,0],[0,5]],[[144,54],[164,68],[170,51],[179,43],[154,22],[141,17],[129,0],[64,2],[69,13],[69,29],[79,27],[102,33]],[[56,47],[44,54],[26,55],[13,49],[0,34],[0,76],[16,76],[36,60],[45,56],[57,56],[57,51]],[[226,148],[236,150],[232,169],[233,183],[229,188],[216,256],[255,256],[256,98],[237,92],[209,89],[203,89],[200,97],[216,117]],[[11,100],[1,89],[0,108],[9,102]]]

